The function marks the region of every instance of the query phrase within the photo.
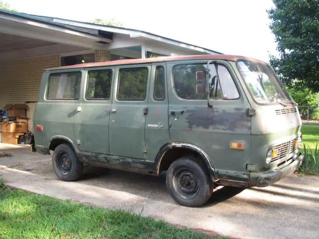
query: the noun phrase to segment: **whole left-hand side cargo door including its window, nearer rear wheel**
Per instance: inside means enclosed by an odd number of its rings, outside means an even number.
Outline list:
[[[110,153],[109,117],[112,104],[114,69],[88,70],[83,84],[78,118],[79,149],[95,153]]]

